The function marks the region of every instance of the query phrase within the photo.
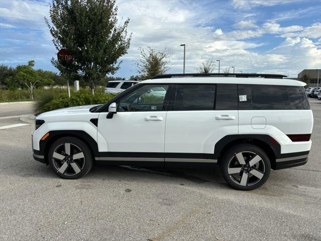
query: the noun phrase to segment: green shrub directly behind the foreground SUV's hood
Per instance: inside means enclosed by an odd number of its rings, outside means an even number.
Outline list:
[[[42,105],[36,111],[46,112],[49,110],[60,109],[70,106],[104,104],[114,96],[114,94],[105,94],[103,92],[96,92],[93,95],[91,94],[89,89],[82,89],[78,92],[73,92],[70,98],[68,97],[67,93],[61,94],[49,101],[48,103]]]

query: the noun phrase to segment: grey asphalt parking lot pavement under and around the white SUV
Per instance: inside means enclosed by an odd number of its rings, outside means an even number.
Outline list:
[[[321,101],[310,105],[308,163],[247,192],[219,169],[95,166],[60,179],[33,160],[33,125],[0,105],[0,127],[28,124],[0,130],[0,240],[321,240]]]

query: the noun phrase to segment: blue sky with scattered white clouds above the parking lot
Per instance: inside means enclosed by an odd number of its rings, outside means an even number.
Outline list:
[[[58,72],[57,50],[44,22],[47,0],[0,0],[0,63],[36,61]],[[115,76],[137,74],[139,47],[172,51],[168,73],[197,72],[203,59],[220,60],[220,71],[274,73],[296,77],[321,68],[320,0],[117,1],[118,19],[129,18],[132,40]],[[214,72],[218,72],[218,62]],[[230,69],[233,72],[233,69]]]

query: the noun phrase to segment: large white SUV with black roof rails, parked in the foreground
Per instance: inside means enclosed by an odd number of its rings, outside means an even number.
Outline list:
[[[282,75],[155,76],[103,105],[38,115],[33,156],[69,179],[86,175],[94,162],[218,164],[230,186],[255,189],[271,168],[307,162],[313,115],[304,85]]]

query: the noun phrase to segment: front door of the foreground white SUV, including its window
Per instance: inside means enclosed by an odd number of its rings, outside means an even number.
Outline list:
[[[155,90],[162,88],[162,94]],[[99,114],[98,149],[103,160],[162,161],[168,84],[142,84],[117,101],[117,113]]]

